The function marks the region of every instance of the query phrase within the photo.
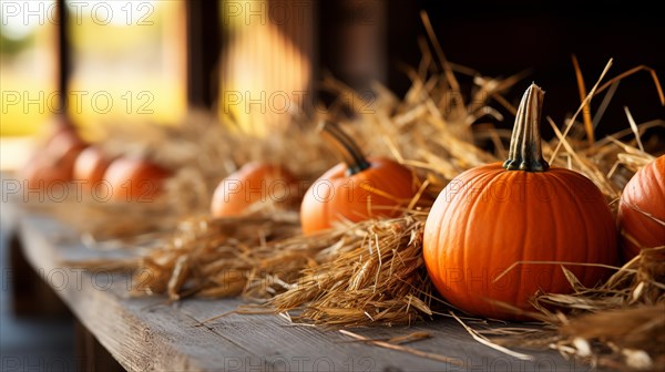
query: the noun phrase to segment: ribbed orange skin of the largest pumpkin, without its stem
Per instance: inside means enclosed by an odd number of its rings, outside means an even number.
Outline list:
[[[565,261],[615,265],[616,229],[598,188],[564,169],[505,170],[500,163],[477,167],[453,179],[437,198],[424,226],[423,257],[429,276],[446,300],[475,316],[524,320],[487,300],[533,310],[538,291],[567,293],[559,265]],[[585,286],[607,270],[565,266]]]

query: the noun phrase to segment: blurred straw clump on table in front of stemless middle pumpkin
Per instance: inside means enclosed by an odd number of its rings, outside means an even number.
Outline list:
[[[264,267],[297,272],[306,265],[313,251],[320,248],[300,245],[300,250],[289,246],[293,249],[285,251],[282,246],[269,244],[298,232],[298,216],[288,211],[184,220],[160,249],[139,259],[141,269],[136,270],[133,282],[140,285],[133,291],[166,293],[170,300],[192,294],[238,296],[252,278],[264,272]],[[277,258],[280,252],[284,256]],[[278,267],[274,266],[277,261]],[[293,278],[286,275],[284,279]]]

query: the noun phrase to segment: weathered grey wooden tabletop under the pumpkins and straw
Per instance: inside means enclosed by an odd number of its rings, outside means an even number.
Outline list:
[[[84,329],[130,371],[591,370],[554,351],[528,352],[533,355],[531,361],[509,356],[474,341],[453,319],[352,331],[372,339],[426,331],[432,338],[408,345],[454,358],[466,366],[352,341],[334,330],[293,326],[273,314],[229,314],[202,326],[201,321],[232,311],[243,301],[186,299],[170,303],[162,297],[130,298],[127,288],[135,283],[127,276],[92,273],[60,264],[117,252],[85,248],[71,229],[50,217],[23,214],[17,225],[31,266]],[[88,354],[82,356],[85,370],[109,368],[100,362],[99,350],[83,350]]]

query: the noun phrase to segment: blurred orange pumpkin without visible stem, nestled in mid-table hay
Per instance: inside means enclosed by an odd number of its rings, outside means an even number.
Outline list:
[[[294,199],[296,177],[285,167],[253,162],[224,178],[213,195],[215,217],[239,216],[258,204],[284,204]]]

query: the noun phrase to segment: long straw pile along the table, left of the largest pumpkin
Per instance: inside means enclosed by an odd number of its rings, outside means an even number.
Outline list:
[[[423,223],[409,215],[300,236],[290,213],[200,218],[144,257],[85,265],[134,268],[135,294],[267,299],[273,311],[298,312],[294,321],[329,327],[408,324],[432,316]]]

